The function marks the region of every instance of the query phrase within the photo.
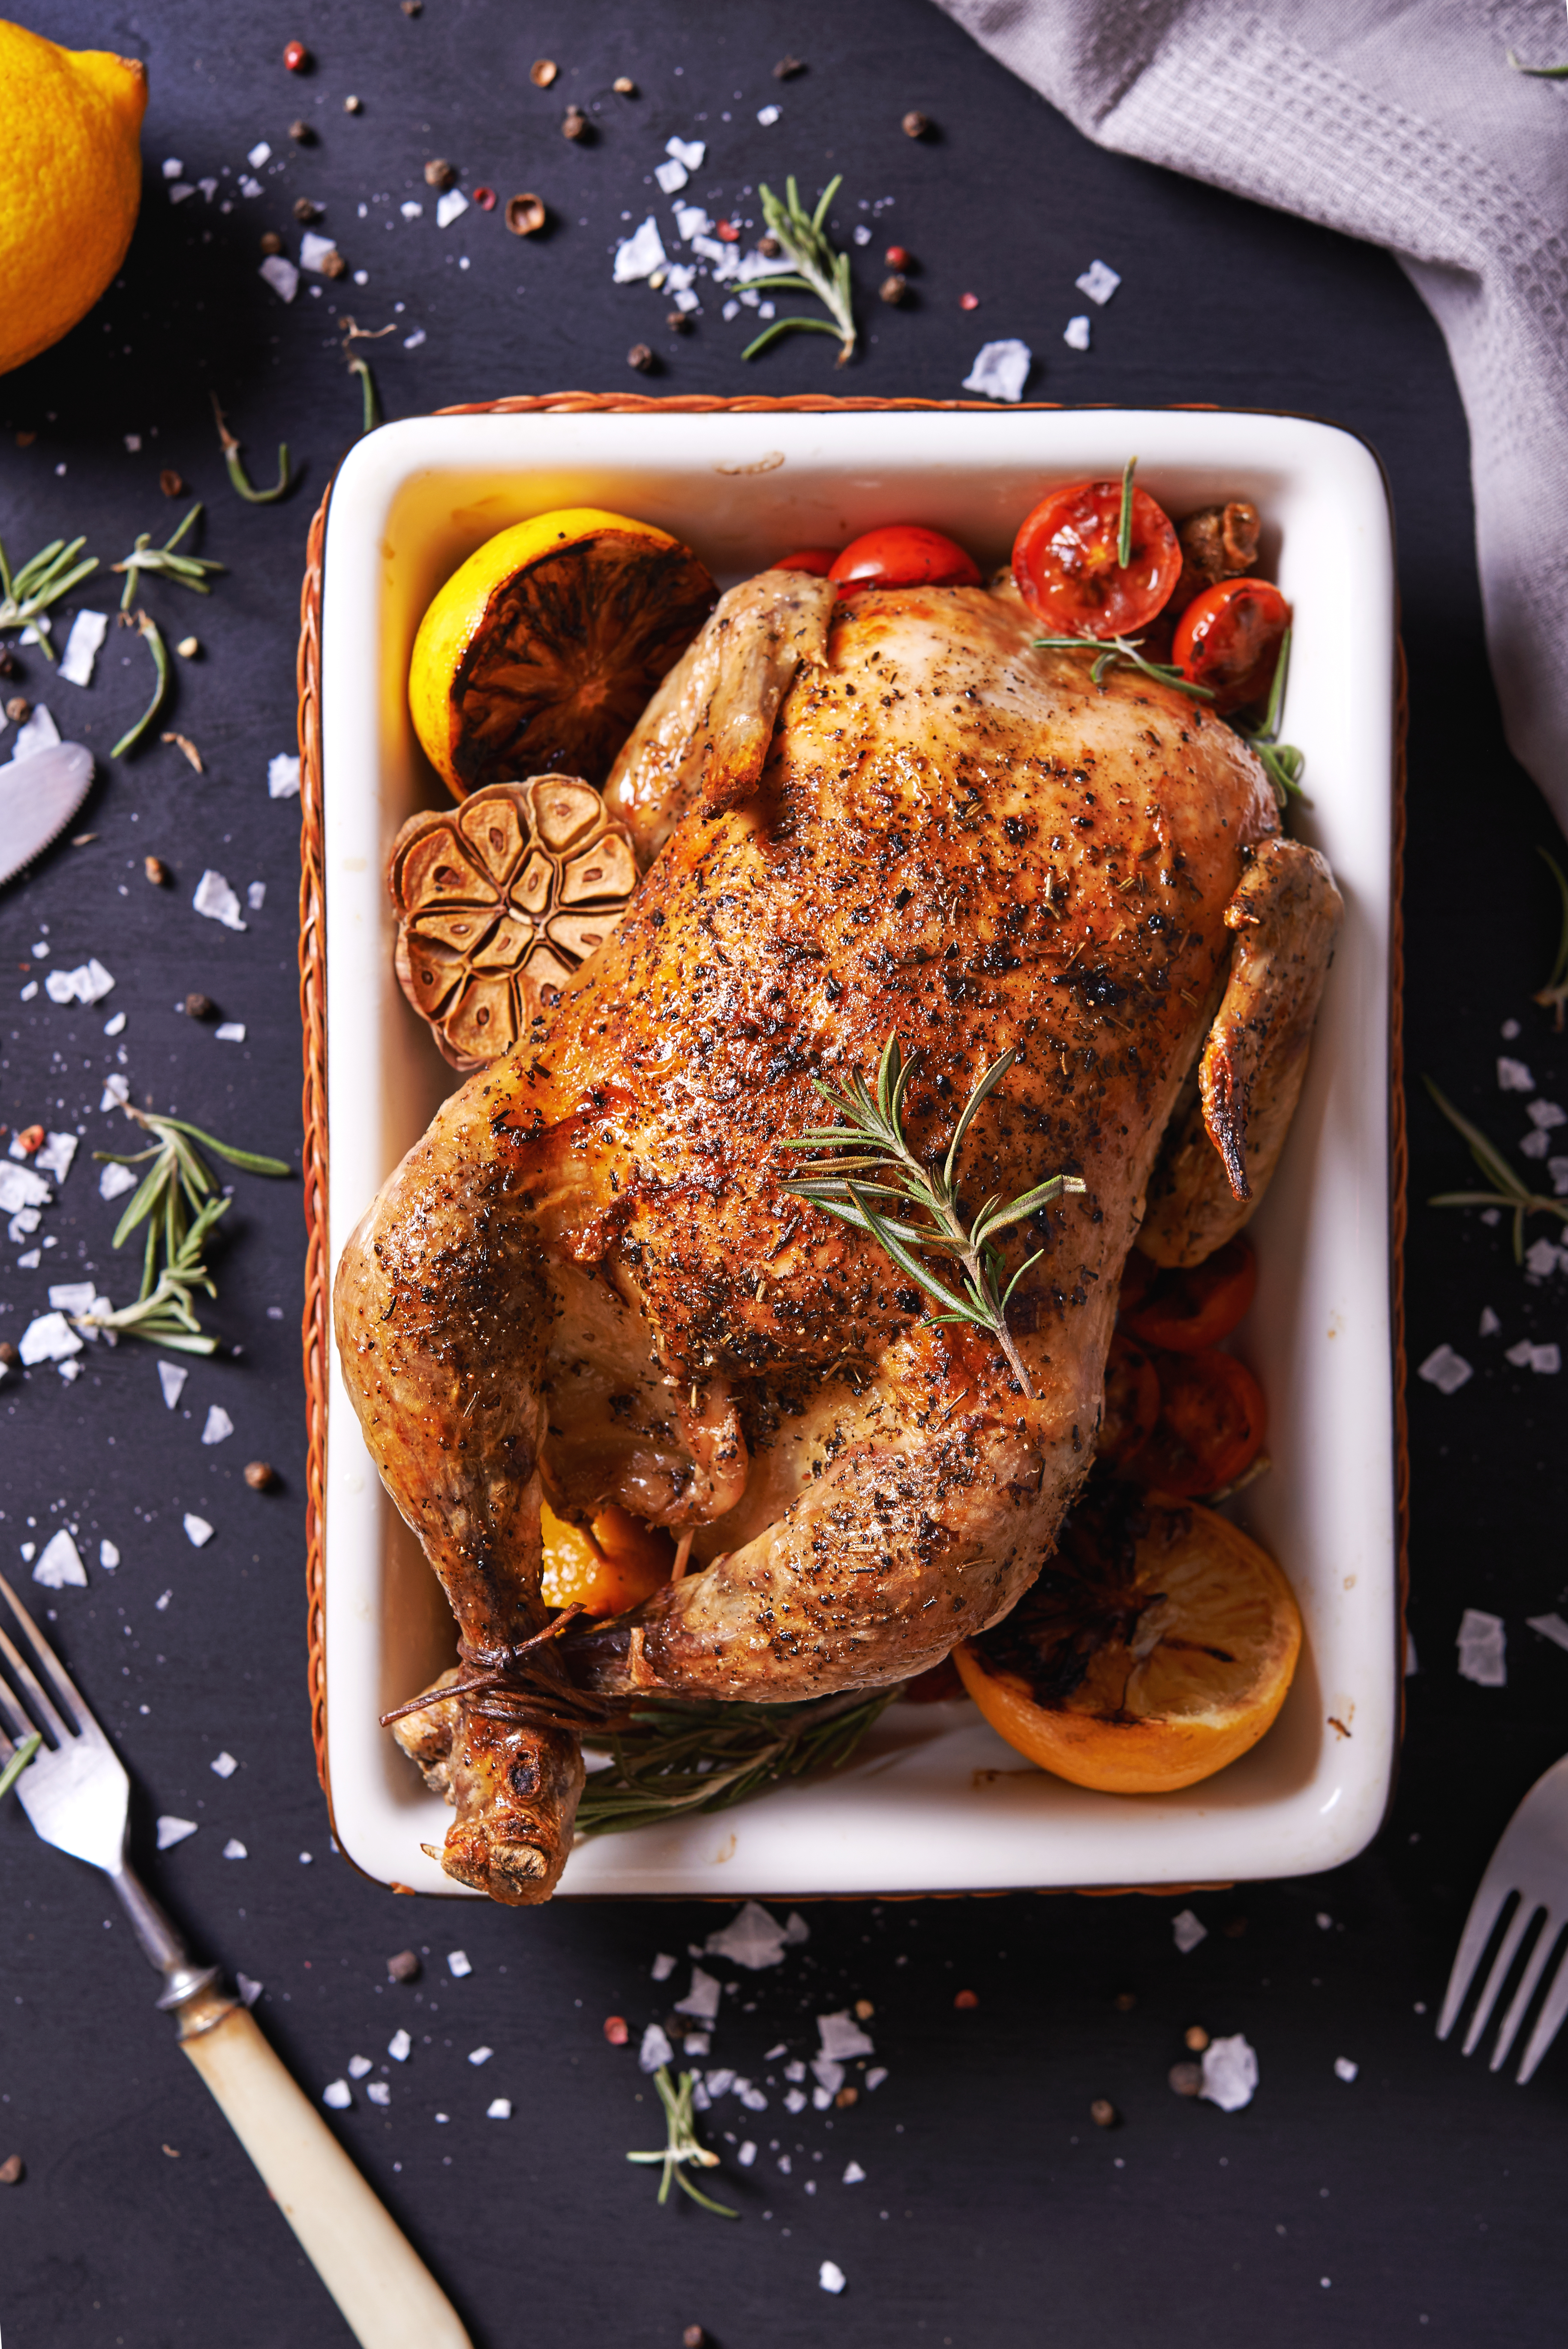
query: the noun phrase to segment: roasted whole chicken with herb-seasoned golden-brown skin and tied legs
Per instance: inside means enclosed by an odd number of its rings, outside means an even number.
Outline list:
[[[1094,1459],[1134,1236],[1197,1264],[1270,1182],[1329,869],[1230,726],[1035,634],[1012,583],[730,590],[606,787],[646,864],[620,928],[343,1252],[347,1391],[460,1626],[397,1734],[498,1900],[549,1898],[617,1701],[873,1689],[1005,1616]],[[1082,1177],[1009,1233],[1045,1250],[1007,1311],[1033,1393],[786,1189],[812,1078],[890,1034],[934,1158],[1016,1052],[965,1196]],[[554,1637],[542,1496],[669,1527],[685,1571]]]

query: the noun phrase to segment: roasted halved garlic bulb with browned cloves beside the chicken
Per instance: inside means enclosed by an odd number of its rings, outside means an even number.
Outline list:
[[[528,1034],[603,947],[636,888],[624,824],[577,775],[491,782],[392,843],[397,980],[453,1069]]]

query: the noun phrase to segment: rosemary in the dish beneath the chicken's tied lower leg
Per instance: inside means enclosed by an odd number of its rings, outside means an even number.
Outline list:
[[[728,1811],[782,1778],[843,1769],[897,1696],[819,1696],[803,1705],[728,1705],[650,1698],[624,1729],[584,1736],[608,1752],[577,1804],[582,1835],[627,1835],[697,1811]]]

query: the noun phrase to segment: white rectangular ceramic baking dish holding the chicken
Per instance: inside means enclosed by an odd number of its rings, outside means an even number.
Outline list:
[[[1397,1510],[1397,641],[1390,510],[1333,425],[1223,411],[469,413],[359,442],[331,493],[322,590],[326,1264],[453,1076],[392,975],[383,869],[444,792],[404,679],[432,592],[484,538],[556,505],[657,521],[728,585],[793,545],[920,519],[1007,557],[1052,482],[1120,472],[1181,514],[1246,496],[1296,606],[1293,824],[1345,895],[1312,1071],[1253,1224],[1237,1337],[1270,1402],[1272,1473],[1237,1515],[1282,1560],[1307,1637],[1272,1734],[1204,1785],[1094,1795],[1021,1762],[969,1705],[894,1705],[836,1778],[678,1828],[582,1844],[559,1898],[918,1893],[1204,1884],[1333,1867],[1376,1832],[1399,1727]],[[451,1813],[378,1715],[453,1661],[434,1576],[326,1381],[324,1762],[338,1842],[383,1882],[455,1893],[423,1853]]]

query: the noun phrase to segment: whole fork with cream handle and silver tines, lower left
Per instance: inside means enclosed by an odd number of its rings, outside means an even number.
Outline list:
[[[9,1736],[7,1736],[9,1731]],[[129,1778],[120,1755],[0,1574],[0,1769],[33,1734],[45,1743],[14,1781],[45,1844],[101,1867],[143,1954],[164,1978],[160,2006],[223,2107],[361,2349],[469,2349],[453,2304],[397,2232],[322,2114],[230,1999],[195,1966],[127,1860]]]

